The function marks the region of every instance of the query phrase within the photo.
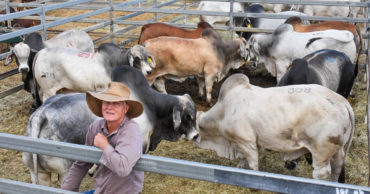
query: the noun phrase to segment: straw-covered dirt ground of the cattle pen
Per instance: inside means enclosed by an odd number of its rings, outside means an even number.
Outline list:
[[[181,1],[178,3],[182,3]],[[188,1],[188,4],[191,2]],[[148,7],[148,6],[146,6]],[[177,7],[164,7],[164,8],[177,8]],[[192,8],[196,9],[196,8]],[[47,12],[47,16],[56,17],[70,17],[77,14],[87,13],[88,10],[54,10]],[[128,14],[128,12],[114,12],[114,17],[120,17]],[[152,13],[145,13],[140,16],[131,18],[130,20],[144,21],[153,17]],[[169,21],[178,17],[178,15],[170,15],[159,21]],[[90,18],[102,18],[108,19],[109,14],[100,14]],[[198,22],[197,17],[192,16],[187,20],[189,23]],[[68,30],[68,29],[82,29],[91,26],[91,23],[68,23],[61,26],[53,27],[52,29]],[[362,24],[357,24],[362,28]],[[126,25],[118,25],[117,29],[126,27]],[[138,34],[140,28],[129,31],[128,33]],[[109,27],[105,30],[97,31],[109,31]],[[48,38],[52,37],[53,34],[49,34]],[[95,39],[98,37],[92,37]],[[115,43],[126,40],[124,38],[115,38]],[[106,40],[105,42],[109,42]],[[101,44],[101,43],[99,43]],[[131,42],[128,46],[136,44]],[[0,44],[1,53],[6,51],[6,44]],[[15,60],[14,60],[15,61]],[[9,71],[10,69],[16,68],[15,62],[12,62],[9,66],[4,67],[0,65],[0,73]],[[360,63],[365,63],[365,56],[361,56]],[[245,68],[231,70],[229,75],[242,73],[249,77],[250,83],[260,87],[273,87],[276,85],[276,78],[271,76],[263,65],[260,65],[258,69],[251,71],[251,63],[247,64]],[[349,102],[354,109],[356,130],[354,133],[354,139],[350,148],[350,152],[347,157],[346,165],[346,183],[354,184],[359,186],[367,186],[367,176],[369,174],[368,159],[367,159],[367,129],[364,124],[364,115],[366,110],[366,84],[363,82],[363,72],[361,70],[356,78],[354,84],[355,98],[349,98]],[[218,98],[219,89],[224,78],[221,82],[213,85],[212,101],[216,103]],[[21,75],[17,74],[9,78],[0,80],[0,91],[9,89],[15,85],[21,84]],[[184,95],[188,93],[196,104],[197,110],[209,110],[205,102],[205,97],[198,97],[198,85],[196,79],[187,79],[183,83],[179,84],[171,80],[166,80],[166,91],[173,95]],[[251,99],[253,100],[253,99]],[[28,110],[31,106],[32,98],[31,95],[25,91],[20,91],[0,99],[0,132],[11,133],[15,135],[24,135],[28,118],[30,114]],[[268,110],[266,110],[267,112]],[[173,159],[181,159],[188,161],[195,161],[207,164],[215,164],[221,166],[235,167],[238,164],[238,160],[231,161],[222,157],[210,150],[203,150],[196,147],[194,144],[188,141],[179,140],[178,142],[162,141],[154,152],[149,154],[154,156],[168,157]],[[181,168],[181,166],[179,166]],[[245,166],[248,169],[248,165]],[[312,166],[307,164],[306,161],[299,161],[299,166],[295,171],[286,170],[283,167],[283,162],[276,152],[262,149],[259,151],[259,169],[263,172],[285,174],[289,176],[312,178]],[[30,174],[27,167],[23,164],[22,153],[13,150],[0,149],[0,178],[6,178],[10,180],[22,181],[31,183]],[[328,179],[327,179],[328,180]],[[94,182],[88,177],[83,180],[80,191],[86,191],[92,189]],[[53,174],[52,187],[60,187],[57,180],[57,176]],[[248,188],[228,186],[223,184],[208,183],[204,181],[191,180],[187,178],[179,178],[172,176],[165,176],[155,173],[145,173],[144,179],[144,190],[142,193],[271,193],[267,191],[250,191]]]

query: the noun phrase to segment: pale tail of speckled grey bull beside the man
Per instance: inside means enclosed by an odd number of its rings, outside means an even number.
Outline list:
[[[44,125],[45,116],[43,114],[37,115],[38,119],[33,119],[37,113],[31,115],[30,123],[31,123],[31,137],[38,138],[40,135],[41,127]],[[34,167],[34,174],[35,174],[35,183],[38,185],[38,166],[37,166],[37,154],[32,154],[33,159],[33,167]]]

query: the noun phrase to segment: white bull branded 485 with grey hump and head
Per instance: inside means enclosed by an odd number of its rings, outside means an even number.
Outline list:
[[[325,30],[297,33],[290,24],[282,24],[268,35],[253,34],[249,41],[249,55],[258,63],[264,63],[277,82],[296,58],[322,49],[343,52],[351,61],[356,59],[356,46],[350,31]]]

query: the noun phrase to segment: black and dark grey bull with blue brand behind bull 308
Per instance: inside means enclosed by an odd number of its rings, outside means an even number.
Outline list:
[[[358,71],[358,63],[353,69],[351,59],[343,52],[319,50],[294,59],[276,86],[318,84],[348,98]]]

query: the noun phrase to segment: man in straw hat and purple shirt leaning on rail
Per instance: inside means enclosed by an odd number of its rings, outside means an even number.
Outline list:
[[[144,106],[130,99],[129,89],[119,82],[110,82],[103,93],[86,92],[91,112],[104,119],[93,122],[86,135],[87,146],[103,151],[95,176],[95,190],[87,194],[140,193],[144,172],[132,170],[142,153],[139,125],[132,120],[140,116]],[[92,163],[75,161],[62,189],[78,192],[81,181],[93,166]]]

